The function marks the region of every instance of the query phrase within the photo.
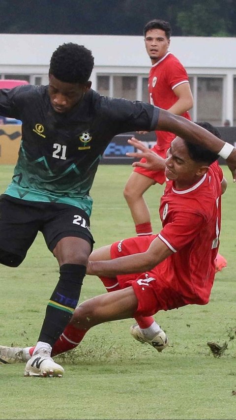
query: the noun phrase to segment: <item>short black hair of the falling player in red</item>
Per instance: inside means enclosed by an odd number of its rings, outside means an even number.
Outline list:
[[[214,127],[209,122],[196,122],[197,125],[200,125],[200,127],[205,128],[210,133],[214,134],[219,139],[222,139],[221,134],[217,127]],[[188,154],[192,160],[195,162],[206,162],[208,165],[215,162],[219,155],[214,153],[211,150],[205,149],[200,145],[189,143],[185,141],[185,145],[188,149]]]

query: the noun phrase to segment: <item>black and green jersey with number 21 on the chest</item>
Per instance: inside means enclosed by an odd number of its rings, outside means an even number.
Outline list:
[[[68,113],[57,113],[48,86],[0,90],[0,115],[22,121],[22,140],[12,182],[5,193],[23,200],[83,207],[99,161],[119,133],[151,131],[159,108],[115,99],[90,89]]]

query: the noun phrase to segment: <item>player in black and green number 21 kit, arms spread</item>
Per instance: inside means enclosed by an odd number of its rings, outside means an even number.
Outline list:
[[[59,264],[59,282],[25,376],[64,373],[51,358],[51,350],[80,297],[94,243],[89,191],[115,135],[173,131],[216,153],[223,149],[236,178],[236,150],[231,145],[150,104],[101,96],[91,89],[93,64],[91,51],[84,46],[62,44],[51,57],[48,86],[0,90],[0,115],[22,121],[18,161],[0,196],[0,263],[18,267],[40,231]]]

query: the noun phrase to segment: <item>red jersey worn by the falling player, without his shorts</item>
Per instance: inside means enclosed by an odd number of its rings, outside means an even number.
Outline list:
[[[187,190],[167,182],[159,209],[159,239],[174,252],[156,267],[158,276],[188,303],[206,304],[215,276],[221,223],[221,181],[218,162]]]

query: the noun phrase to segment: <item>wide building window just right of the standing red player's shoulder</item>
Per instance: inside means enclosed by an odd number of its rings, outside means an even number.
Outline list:
[[[223,78],[198,77],[197,79],[197,120],[213,125],[222,124]]]

